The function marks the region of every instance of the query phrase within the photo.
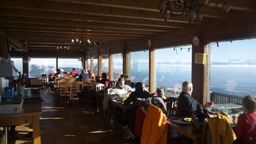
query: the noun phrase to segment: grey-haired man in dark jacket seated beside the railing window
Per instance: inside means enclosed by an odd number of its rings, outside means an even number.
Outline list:
[[[207,102],[202,106],[200,103],[196,102],[191,96],[193,92],[193,84],[190,81],[184,81],[182,83],[182,92],[180,93],[177,101],[177,116],[178,117],[191,117],[192,113],[196,111],[197,108],[210,108],[213,102]],[[214,113],[212,113],[214,114]]]

